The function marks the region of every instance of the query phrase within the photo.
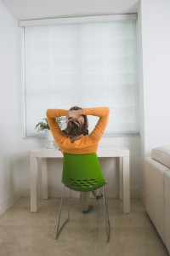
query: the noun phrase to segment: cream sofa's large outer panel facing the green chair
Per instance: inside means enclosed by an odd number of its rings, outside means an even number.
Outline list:
[[[144,205],[156,230],[165,242],[165,186],[164,172],[168,167],[150,156],[144,161]]]

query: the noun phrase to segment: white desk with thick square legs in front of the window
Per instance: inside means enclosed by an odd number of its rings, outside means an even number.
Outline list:
[[[122,147],[99,147],[98,157],[119,158],[119,199],[123,200],[123,212],[130,212],[129,150]],[[42,160],[42,198],[48,199],[47,158],[63,158],[58,148],[37,148],[31,150],[31,212],[37,212],[37,159]]]

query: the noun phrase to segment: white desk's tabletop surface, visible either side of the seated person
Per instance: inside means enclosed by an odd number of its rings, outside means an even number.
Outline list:
[[[98,157],[125,157],[129,156],[129,149],[121,146],[100,146]],[[62,158],[59,148],[36,148],[31,150],[30,157],[37,158]]]

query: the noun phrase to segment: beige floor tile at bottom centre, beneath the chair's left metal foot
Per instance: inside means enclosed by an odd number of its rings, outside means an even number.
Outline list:
[[[97,256],[98,230],[74,230],[67,225],[58,240],[54,240],[55,232],[54,226],[42,227],[26,256]]]

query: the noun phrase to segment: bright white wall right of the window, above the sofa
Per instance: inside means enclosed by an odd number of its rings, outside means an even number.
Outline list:
[[[142,0],[145,154],[170,144],[169,12],[169,0]]]

